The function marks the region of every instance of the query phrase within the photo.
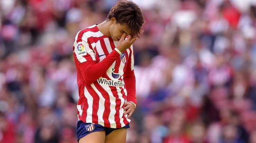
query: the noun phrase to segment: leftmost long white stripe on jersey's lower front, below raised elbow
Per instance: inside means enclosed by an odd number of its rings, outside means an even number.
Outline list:
[[[88,103],[88,109],[86,110],[87,112],[87,117],[86,117],[86,122],[87,123],[92,123],[92,103],[93,103],[93,98],[88,92],[88,90],[84,87],[84,96],[87,99]]]

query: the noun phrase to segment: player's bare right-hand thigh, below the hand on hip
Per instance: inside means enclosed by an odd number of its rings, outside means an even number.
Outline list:
[[[126,134],[126,128],[114,130],[106,136],[105,143],[126,143]]]

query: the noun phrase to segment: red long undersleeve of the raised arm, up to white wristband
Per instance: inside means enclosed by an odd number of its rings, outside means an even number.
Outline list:
[[[83,78],[87,84],[92,84],[104,73],[107,72],[109,67],[116,61],[120,54],[113,50],[106,58],[101,62],[96,63],[95,61],[83,62],[79,65],[79,69],[83,74]]]

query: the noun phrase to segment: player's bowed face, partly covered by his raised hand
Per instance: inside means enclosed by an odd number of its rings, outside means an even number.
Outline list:
[[[114,41],[119,41],[123,33],[126,33],[126,36],[128,34],[131,35],[131,29],[127,28],[126,24],[117,23],[115,18],[111,18],[110,21],[112,24],[110,26],[109,32],[110,32],[111,38]]]

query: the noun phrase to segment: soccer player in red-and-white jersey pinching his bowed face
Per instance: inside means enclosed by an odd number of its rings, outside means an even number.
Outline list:
[[[77,141],[125,143],[136,108],[132,43],[142,34],[143,14],[119,1],[107,20],[79,31],[73,45],[77,69]]]

